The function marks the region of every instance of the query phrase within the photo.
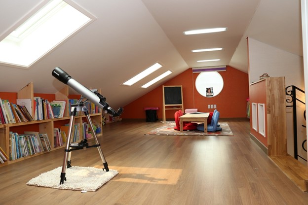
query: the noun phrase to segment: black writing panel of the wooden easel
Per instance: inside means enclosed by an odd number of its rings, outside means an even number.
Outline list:
[[[182,86],[164,86],[164,104],[182,104]]]

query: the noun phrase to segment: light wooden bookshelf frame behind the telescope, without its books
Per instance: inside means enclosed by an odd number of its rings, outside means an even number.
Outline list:
[[[100,93],[101,90],[98,89],[98,92]],[[65,147],[65,143],[62,146],[54,147],[55,141],[54,141],[54,128],[60,128],[61,126],[64,126],[65,124],[68,124],[70,121],[70,111],[69,111],[69,87],[68,85],[65,85],[61,90],[56,92],[54,95],[55,100],[65,100],[67,101],[64,117],[62,118],[54,118],[54,119],[45,119],[45,120],[34,120],[29,122],[18,122],[18,123],[8,123],[8,124],[2,124],[0,125],[0,147],[3,149],[5,154],[9,156],[10,154],[10,132],[15,132],[18,134],[24,134],[26,131],[34,131],[39,133],[44,133],[48,135],[48,139],[51,144],[51,150],[57,150]],[[1,97],[1,96],[0,96]],[[33,82],[30,82],[25,87],[23,87],[21,90],[17,93],[17,99],[31,99],[32,102],[32,116],[34,116],[34,84]],[[90,112],[90,111],[89,111]],[[94,125],[97,125],[101,128],[101,132],[97,133],[97,137],[102,136],[102,112],[100,110],[99,113],[93,113],[89,115],[91,118],[91,121]],[[79,133],[82,133],[82,123],[87,122],[87,119],[85,115],[79,115],[75,117],[75,123],[79,124]],[[92,131],[95,132],[95,131]],[[89,141],[93,140],[93,136],[88,138]],[[79,140],[77,140],[79,141]],[[15,160],[7,160],[6,162],[0,164],[0,167],[6,166],[9,164],[13,164],[22,160],[26,160],[35,156],[39,156],[40,154],[48,153],[48,151],[36,153],[34,155],[30,155],[27,157],[21,157],[19,159]]]

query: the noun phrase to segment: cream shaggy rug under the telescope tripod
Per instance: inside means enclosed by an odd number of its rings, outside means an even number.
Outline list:
[[[27,185],[49,187],[56,189],[70,189],[78,191],[95,192],[106,182],[112,179],[118,171],[93,168],[93,167],[71,167],[66,169],[66,181],[60,185],[62,167],[52,171],[41,173],[39,176],[28,181]]]

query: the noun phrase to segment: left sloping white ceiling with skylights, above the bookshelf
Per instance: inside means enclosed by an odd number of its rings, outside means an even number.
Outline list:
[[[34,2],[33,7],[40,1]],[[88,88],[101,88],[101,94],[110,105],[117,107],[135,100],[164,82],[149,89],[140,88],[145,81],[130,87],[121,85],[154,63],[161,63],[163,68],[145,80],[153,79],[160,72],[170,69],[173,74],[164,79],[166,81],[188,69],[182,56],[142,1],[75,2],[96,16],[97,20],[29,70],[0,66],[0,71],[5,73],[0,75],[0,92],[17,92],[29,82],[34,82],[35,93],[53,94],[64,86],[51,75],[53,68],[60,67],[80,84]],[[10,0],[0,1],[1,8],[10,10],[2,18],[7,19],[10,25],[0,23],[0,33],[33,9],[32,6],[27,6],[25,1],[20,1],[18,5]]]

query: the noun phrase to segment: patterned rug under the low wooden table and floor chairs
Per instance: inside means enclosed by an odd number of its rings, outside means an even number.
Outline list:
[[[163,126],[156,128],[155,130],[146,133],[145,135],[182,135],[182,136],[233,136],[233,133],[227,122],[219,122],[222,130],[219,132],[208,132],[204,133],[202,131],[180,131],[174,130],[175,122],[166,122]]]

